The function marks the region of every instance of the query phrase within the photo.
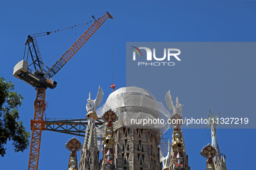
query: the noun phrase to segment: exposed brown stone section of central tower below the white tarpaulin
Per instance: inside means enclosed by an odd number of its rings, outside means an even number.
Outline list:
[[[161,170],[160,139],[148,129],[119,128],[115,136],[117,170]]]

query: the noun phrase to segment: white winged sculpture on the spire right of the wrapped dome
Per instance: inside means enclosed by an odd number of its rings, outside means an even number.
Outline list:
[[[172,110],[172,115],[174,115],[175,113],[178,113],[180,116],[182,114],[182,106],[179,102],[178,102],[178,97],[176,98],[176,105],[174,106],[173,102],[172,102],[172,96],[170,93],[170,90],[167,91],[166,95],[165,95],[165,102],[167,104],[167,107],[169,108],[169,110]]]

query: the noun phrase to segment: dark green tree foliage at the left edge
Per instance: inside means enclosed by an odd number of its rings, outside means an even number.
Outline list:
[[[24,151],[29,145],[29,132],[19,121],[17,107],[22,103],[22,96],[13,91],[12,82],[0,78],[0,154],[6,153],[4,145],[7,140],[13,141],[14,151]]]

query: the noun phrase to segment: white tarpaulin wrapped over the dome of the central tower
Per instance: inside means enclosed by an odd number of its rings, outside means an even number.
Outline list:
[[[101,117],[109,109],[112,109],[118,116],[117,122],[113,123],[114,130],[123,126],[126,126],[126,128],[152,129],[154,131],[158,130],[158,135],[162,136],[171,126],[167,123],[167,120],[171,117],[169,111],[162,102],[156,101],[156,98],[143,88],[124,87],[114,91],[109,95],[106,103],[97,109],[98,117]],[[147,123],[144,119],[147,120]],[[156,123],[158,119],[158,122],[162,119],[166,124]],[[105,124],[97,128],[97,135],[100,139],[105,136],[105,128]]]

